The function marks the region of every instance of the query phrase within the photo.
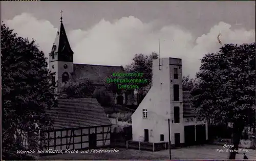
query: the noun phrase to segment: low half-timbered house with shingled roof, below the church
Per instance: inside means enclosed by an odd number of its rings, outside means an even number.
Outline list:
[[[78,150],[110,145],[112,123],[96,99],[60,99],[58,106],[47,113],[53,130],[45,132],[44,149]]]

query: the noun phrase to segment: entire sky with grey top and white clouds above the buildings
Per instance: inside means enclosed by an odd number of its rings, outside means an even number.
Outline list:
[[[74,63],[127,65],[135,54],[182,59],[194,77],[200,59],[226,43],[255,42],[254,1],[1,2],[1,21],[35,39],[46,57],[63,24]]]

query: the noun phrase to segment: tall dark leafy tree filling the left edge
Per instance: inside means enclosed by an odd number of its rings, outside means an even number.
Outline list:
[[[26,159],[16,154],[25,149],[20,141],[22,132],[28,132],[28,148],[37,150],[44,146],[39,140],[45,135],[41,132],[38,136],[35,123],[41,131],[51,128],[44,105],[56,106],[55,87],[50,81],[54,74],[35,41],[18,37],[5,25],[1,25],[1,59],[3,159]]]

